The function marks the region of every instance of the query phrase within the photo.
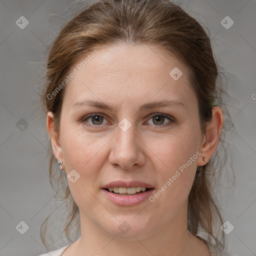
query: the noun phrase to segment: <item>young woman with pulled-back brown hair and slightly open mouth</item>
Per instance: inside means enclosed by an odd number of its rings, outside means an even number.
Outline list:
[[[71,201],[65,234],[78,213],[81,233],[51,255],[230,255],[211,193],[218,69],[194,18],[167,0],[96,1],[55,39],[46,77],[49,174],[58,163]]]

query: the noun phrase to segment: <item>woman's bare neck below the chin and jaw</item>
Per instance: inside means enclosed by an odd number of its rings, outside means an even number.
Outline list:
[[[120,238],[109,234],[80,211],[81,237],[75,242],[75,255],[94,256],[184,256],[209,255],[205,244],[187,231],[186,207],[164,226],[151,233]],[[128,232],[127,232],[128,234]]]

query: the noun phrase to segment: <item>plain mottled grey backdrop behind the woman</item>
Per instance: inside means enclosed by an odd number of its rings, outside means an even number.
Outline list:
[[[235,184],[231,186],[227,167],[217,196],[223,220],[234,226],[225,236],[228,251],[255,255],[256,1],[173,2],[208,27],[216,58],[228,76],[228,93],[233,97],[229,111],[237,131],[228,137],[235,148]],[[0,255],[46,252],[39,227],[58,204],[52,201],[48,181],[46,120],[37,106],[35,84],[42,75],[46,44],[55,37],[57,25],[64,20],[61,17],[79,4],[71,0],[0,0]],[[24,29],[15,24],[22,15],[29,21]],[[234,21],[229,29],[220,23],[226,15]],[[17,127],[24,122],[21,118],[28,124],[23,131]],[[231,128],[227,122],[225,129]],[[24,234],[15,228],[20,221],[29,226]],[[52,249],[67,244],[59,236]]]

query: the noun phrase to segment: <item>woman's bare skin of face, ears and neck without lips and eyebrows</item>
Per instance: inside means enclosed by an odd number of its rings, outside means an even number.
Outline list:
[[[67,180],[80,209],[81,237],[62,255],[209,256],[207,246],[187,231],[187,200],[196,167],[206,164],[216,149],[223,126],[220,107],[212,108],[213,117],[203,135],[188,68],[179,59],[154,45],[123,43],[97,49],[66,85],[60,134],[52,130],[52,113],[47,114],[56,159],[63,161],[67,174],[75,169],[80,175],[74,183]],[[183,73],[178,80],[169,75],[174,67]],[[115,110],[72,107],[85,98]],[[184,106],[138,111],[143,103],[164,99],[179,100]],[[92,113],[104,118],[84,120]],[[153,113],[176,120],[155,119]],[[123,118],[131,124],[126,131],[118,127]],[[138,205],[119,206],[101,191],[104,184],[117,179],[144,181],[157,191],[197,151],[201,155],[154,202],[146,199]],[[130,225],[125,234],[118,228],[123,221]]]

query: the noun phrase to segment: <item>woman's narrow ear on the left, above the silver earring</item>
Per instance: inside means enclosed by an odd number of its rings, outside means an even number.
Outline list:
[[[59,135],[56,133],[56,131],[54,131],[52,124],[53,124],[53,113],[48,112],[46,126],[47,126],[47,131],[50,135],[52,150],[55,155],[55,158],[58,161],[63,161],[62,148],[59,142]],[[64,165],[62,167],[62,170],[64,170]]]

